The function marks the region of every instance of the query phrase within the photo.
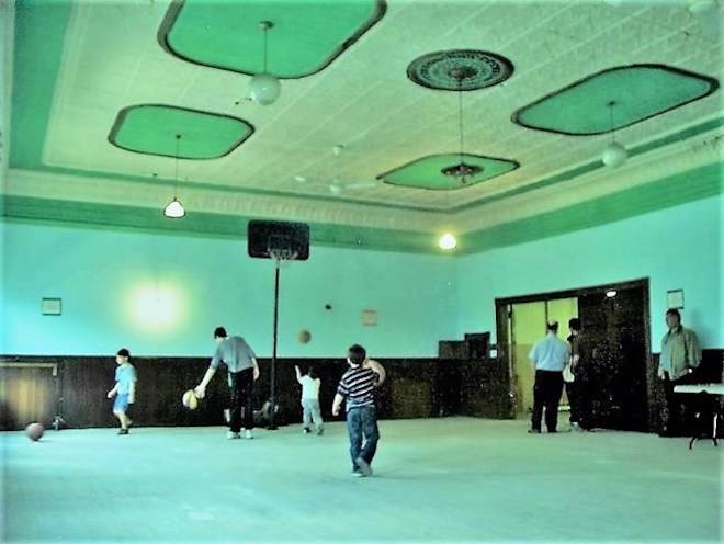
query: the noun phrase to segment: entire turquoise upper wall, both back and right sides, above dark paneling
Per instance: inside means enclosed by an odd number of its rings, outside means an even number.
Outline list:
[[[352,342],[386,356],[434,356],[464,332],[495,336],[496,297],[651,281],[653,349],[667,290],[683,288],[685,324],[724,345],[722,211],[717,195],[604,226],[450,257],[313,248],[282,271],[280,353],[338,356]],[[203,355],[225,325],[271,352],[273,268],[246,242],[0,222],[0,353]],[[61,317],[43,317],[59,296]],[[332,310],[324,308],[331,304]],[[377,327],[361,314],[376,309]],[[309,329],[313,341],[299,344]]]

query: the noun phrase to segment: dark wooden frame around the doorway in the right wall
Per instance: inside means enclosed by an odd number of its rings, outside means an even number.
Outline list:
[[[508,296],[495,298],[495,313],[496,313],[496,348],[498,353],[498,359],[505,359],[508,365],[508,376],[509,376],[509,387],[510,395],[514,397],[516,383],[514,383],[514,367],[513,367],[513,355],[511,347],[511,333],[512,333],[512,322],[511,322],[511,306],[513,304],[521,303],[535,303],[543,301],[551,301],[556,298],[578,298],[585,295],[595,295],[606,293],[610,290],[624,290],[624,288],[641,288],[644,293],[643,299],[643,314],[644,314],[644,345],[646,349],[646,359],[644,364],[646,365],[646,372],[653,366],[653,353],[651,345],[651,301],[649,301],[649,288],[648,288],[648,277],[641,277],[637,280],[629,280],[624,282],[607,283],[604,285],[593,285],[588,287],[578,287],[573,290],[565,291],[548,291],[545,293],[533,293],[529,295],[519,295],[519,296]],[[647,388],[647,394],[649,394]],[[647,397],[648,406],[651,407],[652,399]],[[519,399],[514,398],[513,412],[518,412],[518,403]],[[651,420],[651,417],[649,417]]]

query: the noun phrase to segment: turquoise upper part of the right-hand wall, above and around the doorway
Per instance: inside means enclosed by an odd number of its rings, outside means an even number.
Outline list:
[[[455,261],[459,330],[490,330],[495,298],[649,279],[652,349],[665,332],[666,292],[685,292],[685,325],[724,347],[724,195]]]

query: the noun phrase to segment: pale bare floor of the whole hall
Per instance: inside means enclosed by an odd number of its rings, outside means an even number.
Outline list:
[[[341,423],[2,433],[3,542],[719,542],[710,442],[524,421],[381,422],[372,478]]]

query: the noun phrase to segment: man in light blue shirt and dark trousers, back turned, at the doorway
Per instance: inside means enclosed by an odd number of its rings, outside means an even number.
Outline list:
[[[558,322],[547,324],[548,333],[533,345],[528,358],[535,364],[535,386],[533,388],[533,417],[528,432],[540,433],[543,407],[545,427],[556,432],[558,426],[558,403],[563,394],[563,370],[570,361],[568,344],[558,338]]]

